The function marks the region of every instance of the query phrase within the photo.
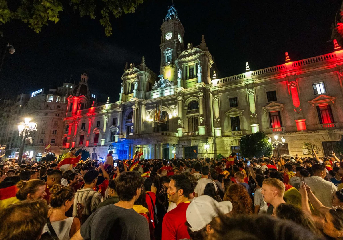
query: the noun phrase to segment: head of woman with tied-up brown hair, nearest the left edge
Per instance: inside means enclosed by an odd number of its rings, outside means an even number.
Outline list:
[[[33,179],[29,181],[20,181],[17,183],[19,190],[16,193],[17,199],[23,200],[41,200],[46,196],[45,188],[46,183],[39,179]]]

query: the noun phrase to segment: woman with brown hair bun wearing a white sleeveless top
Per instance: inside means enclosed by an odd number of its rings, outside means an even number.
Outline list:
[[[50,188],[50,193],[51,208],[48,211],[48,226],[50,223],[59,240],[69,240],[81,227],[83,206],[80,203],[77,206],[78,217],[67,217],[65,214],[74,202],[74,189],[55,184]],[[49,229],[50,234],[53,235],[51,227],[48,226],[45,229]]]

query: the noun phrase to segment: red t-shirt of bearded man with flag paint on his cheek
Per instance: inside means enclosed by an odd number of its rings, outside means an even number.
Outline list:
[[[189,239],[186,223],[186,210],[189,201],[179,203],[173,210],[166,213],[162,223],[162,240]]]

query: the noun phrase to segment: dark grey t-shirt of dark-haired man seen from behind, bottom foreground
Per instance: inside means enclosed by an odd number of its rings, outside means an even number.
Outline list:
[[[98,208],[80,228],[83,239],[150,240],[149,225],[136,211],[114,204]]]

